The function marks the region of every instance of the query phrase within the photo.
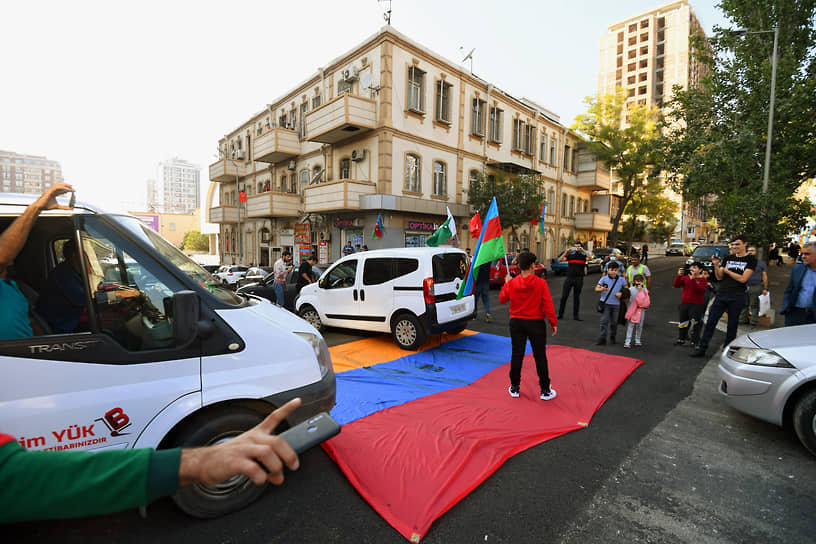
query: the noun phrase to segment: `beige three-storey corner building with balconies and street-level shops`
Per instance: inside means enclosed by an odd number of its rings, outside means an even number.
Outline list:
[[[603,244],[611,230],[609,172],[577,134],[390,26],[234,128],[218,148],[207,208],[220,226],[222,262],[265,265],[284,250],[331,262],[347,241],[422,246],[446,208],[459,246],[473,247],[467,188],[479,175],[541,180],[545,233],[531,224],[505,232],[510,250],[549,259],[573,239]],[[372,239],[378,216],[384,235]]]

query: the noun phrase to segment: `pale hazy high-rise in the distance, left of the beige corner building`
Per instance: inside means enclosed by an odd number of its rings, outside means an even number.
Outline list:
[[[147,181],[147,209],[158,213],[189,214],[200,205],[201,167],[178,157],[159,163],[156,177]]]

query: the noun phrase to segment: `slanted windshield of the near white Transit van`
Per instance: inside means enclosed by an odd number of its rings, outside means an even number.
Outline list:
[[[193,279],[196,283],[205,287],[213,296],[234,306],[240,306],[243,301],[238,295],[232,292],[229,287],[222,284],[217,278],[210,275],[198,263],[190,259],[187,255],[178,250],[170,242],[162,238],[159,233],[145,225],[135,217],[119,215],[115,217],[116,223],[124,227],[145,247],[156,250],[162,257],[173,263],[184,274]]]

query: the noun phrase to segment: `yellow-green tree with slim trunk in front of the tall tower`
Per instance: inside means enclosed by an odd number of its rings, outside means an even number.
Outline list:
[[[657,158],[657,122],[659,112],[634,102],[626,102],[626,91],[618,88],[615,94],[596,98],[587,97],[587,113],[575,118],[574,130],[589,138],[589,150],[607,168],[614,171],[620,183],[621,203],[612,218],[609,245],[618,241],[618,227],[632,198],[647,183]],[[628,118],[628,126],[621,121]]]

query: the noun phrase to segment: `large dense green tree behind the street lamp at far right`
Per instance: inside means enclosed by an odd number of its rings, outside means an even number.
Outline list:
[[[749,34],[715,28],[710,49],[694,40],[708,76],[699,89],[675,88],[662,166],[686,199],[716,197],[710,210],[725,232],[767,247],[804,225],[807,203],[793,193],[816,175],[816,0],[722,0],[720,7],[729,26]],[[776,100],[763,193],[776,26]]]

